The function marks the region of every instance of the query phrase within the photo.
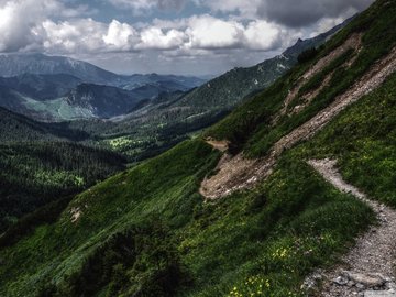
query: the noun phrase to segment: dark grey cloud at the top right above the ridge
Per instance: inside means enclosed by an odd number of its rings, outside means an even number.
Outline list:
[[[340,16],[348,10],[362,11],[374,0],[265,0],[258,15],[292,28],[310,25],[322,18]]]

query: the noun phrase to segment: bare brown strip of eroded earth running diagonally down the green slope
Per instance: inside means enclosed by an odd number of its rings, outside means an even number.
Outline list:
[[[396,47],[374,64],[349,90],[337,97],[330,106],[276,142],[266,157],[246,160],[241,153],[234,157],[222,158],[217,167],[218,173],[202,180],[200,194],[207,199],[217,199],[235,190],[252,187],[266,178],[284,150],[315,135],[348,106],[380,87],[395,70]]]

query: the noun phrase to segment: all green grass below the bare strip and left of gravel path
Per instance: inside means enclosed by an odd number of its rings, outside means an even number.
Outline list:
[[[152,260],[144,262],[143,271],[136,268],[142,257],[152,257],[144,249],[122,261],[116,256],[100,262],[98,268],[88,270],[91,276],[98,274],[94,278],[86,275],[91,258],[120,253],[111,243],[114,238],[135,234],[133,230],[145,226],[148,229],[139,235],[141,241],[158,237],[153,244],[166,252],[164,263],[176,258],[177,271],[183,272],[177,274],[177,290],[169,296],[233,296],[234,287],[242,294],[267,282],[270,286],[257,296],[289,292],[297,296],[304,276],[318,265],[332,263],[373,219],[366,206],[334,190],[292,155],[284,156],[275,174],[258,188],[205,204],[197,194],[198,182],[218,155],[199,140],[185,142],[79,195],[58,221],[44,223],[1,250],[4,283],[0,294],[78,296],[78,279],[85,277],[84,287],[92,286],[95,292],[90,296],[129,296],[139,286],[146,289],[161,272],[175,280],[174,270],[156,267]],[[75,208],[82,215],[73,223],[70,210]],[[170,245],[161,241],[161,232],[153,235],[150,231],[153,216],[167,230]],[[128,243],[136,235],[127,239]],[[103,277],[99,287],[89,283],[98,277]],[[127,280],[120,285],[118,277]]]

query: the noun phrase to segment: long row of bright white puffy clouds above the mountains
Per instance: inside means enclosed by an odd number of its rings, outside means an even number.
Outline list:
[[[48,53],[178,50],[183,55],[196,55],[231,48],[272,51],[279,48],[287,37],[286,31],[274,23],[243,23],[209,14],[136,28],[117,20],[109,24],[92,19],[45,20],[35,32]]]

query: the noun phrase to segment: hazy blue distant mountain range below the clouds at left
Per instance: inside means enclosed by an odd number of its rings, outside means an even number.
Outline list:
[[[117,75],[89,63],[43,54],[0,55],[0,106],[36,120],[123,114],[141,100],[187,91],[206,79],[175,75]]]

